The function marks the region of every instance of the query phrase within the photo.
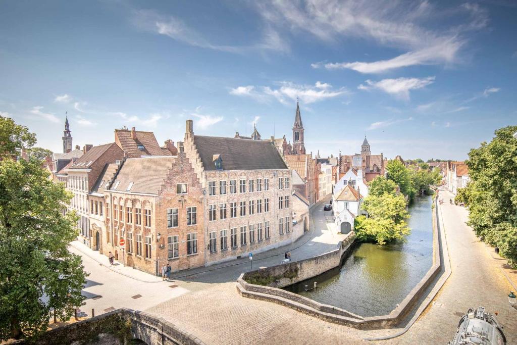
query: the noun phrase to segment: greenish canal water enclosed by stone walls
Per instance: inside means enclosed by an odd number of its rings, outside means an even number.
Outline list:
[[[286,290],[360,316],[389,314],[433,264],[433,197],[415,198],[409,207],[406,242],[356,245],[336,267]],[[305,286],[317,288],[305,291]]]

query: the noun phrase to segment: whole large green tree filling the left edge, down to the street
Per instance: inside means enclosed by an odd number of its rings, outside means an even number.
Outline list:
[[[84,300],[86,273],[67,249],[77,217],[62,215],[71,195],[40,161],[11,159],[34,144],[34,134],[0,117],[0,138],[0,341],[36,339],[53,312],[68,320]]]

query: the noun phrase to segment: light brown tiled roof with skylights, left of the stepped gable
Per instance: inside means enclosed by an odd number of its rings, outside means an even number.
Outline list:
[[[111,184],[111,190],[158,194],[175,160],[175,156],[128,158],[119,168],[120,171]],[[117,182],[119,184],[115,189]],[[127,190],[131,182],[133,185]]]

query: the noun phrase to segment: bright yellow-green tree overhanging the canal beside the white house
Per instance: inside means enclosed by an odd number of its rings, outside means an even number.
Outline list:
[[[369,194],[362,205],[368,218],[355,218],[355,233],[361,242],[376,242],[384,245],[397,239],[404,239],[410,233],[406,219],[406,201],[403,196],[384,193],[382,196]]]

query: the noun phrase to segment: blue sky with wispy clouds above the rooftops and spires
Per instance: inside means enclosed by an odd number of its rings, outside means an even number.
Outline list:
[[[0,113],[62,151],[152,130],[465,159],[517,122],[512,1],[0,3]]]

